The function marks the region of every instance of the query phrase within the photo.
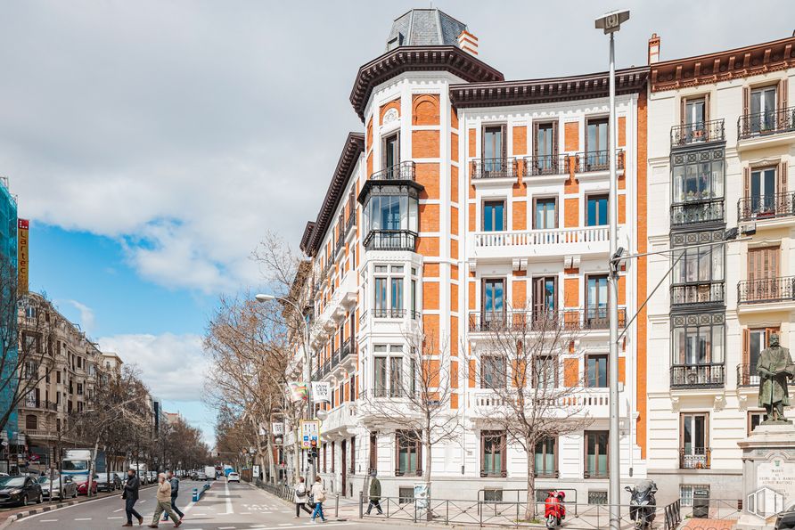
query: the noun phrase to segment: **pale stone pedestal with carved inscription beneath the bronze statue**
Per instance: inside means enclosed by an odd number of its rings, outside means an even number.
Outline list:
[[[795,426],[759,425],[742,442],[742,517],[738,530],[773,528],[775,514],[795,504]]]

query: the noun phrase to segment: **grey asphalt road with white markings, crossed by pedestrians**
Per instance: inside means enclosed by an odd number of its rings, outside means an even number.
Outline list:
[[[176,505],[184,511],[180,529],[184,530],[290,530],[304,528],[311,524],[308,514],[295,516],[294,508],[272,495],[248,484],[227,484],[217,480],[204,494],[201,501],[191,502],[191,490],[203,483],[184,480],[180,483]],[[146,528],[152,523],[156,488],[141,490],[141,500],[135,509],[143,516],[143,526],[133,521],[134,528]],[[362,530],[382,526],[365,524],[359,521],[335,521],[326,513],[328,522],[323,526],[357,526]],[[9,530],[53,530],[102,529],[120,527],[127,522],[124,514],[124,501],[120,495],[76,504],[60,510],[48,511],[12,523]],[[318,523],[320,520],[318,519]],[[173,528],[174,523],[160,521],[160,528]]]

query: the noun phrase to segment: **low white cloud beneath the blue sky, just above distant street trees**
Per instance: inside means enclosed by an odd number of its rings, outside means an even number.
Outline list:
[[[152,395],[170,401],[201,401],[208,363],[199,335],[130,334],[102,337],[102,351],[119,354],[142,371]]]

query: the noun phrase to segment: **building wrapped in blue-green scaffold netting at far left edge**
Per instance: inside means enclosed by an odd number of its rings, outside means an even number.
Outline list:
[[[10,276],[8,279],[0,281],[3,292],[0,296],[4,297],[4,304],[8,300],[7,297],[15,297],[16,293],[12,292],[16,289],[17,283],[17,200],[12,195],[8,187],[8,181],[0,177],[0,274],[7,274]],[[11,319],[8,319],[11,320]],[[0,326],[13,326],[13,329],[0,330],[0,336],[4,339],[12,338],[8,347],[3,347],[4,350],[0,351],[0,355],[6,356],[4,363],[4,372],[0,373],[0,380],[7,381],[9,378],[14,377],[14,366],[16,365],[17,350],[17,322],[14,319],[12,322],[0,322]],[[0,386],[0,410],[6,410],[11,405],[12,401],[12,385]],[[19,421],[17,419],[17,411],[13,410],[11,417],[5,425],[0,425],[0,438],[4,441],[13,441],[15,432],[18,430]],[[7,447],[7,445],[5,446]],[[0,453],[4,453],[3,447],[0,447]]]

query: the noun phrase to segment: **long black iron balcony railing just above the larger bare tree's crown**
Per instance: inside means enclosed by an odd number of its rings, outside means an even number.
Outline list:
[[[619,328],[627,324],[627,309],[619,307]],[[562,327],[566,330],[607,330],[610,318],[607,307],[564,309],[552,313],[535,313],[527,310],[473,311],[469,329],[472,333],[512,330],[549,330]]]

